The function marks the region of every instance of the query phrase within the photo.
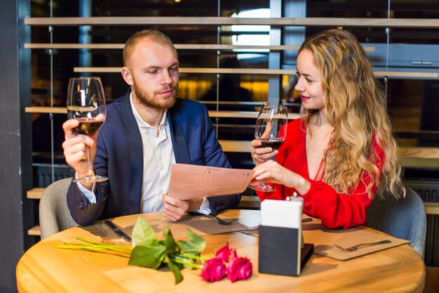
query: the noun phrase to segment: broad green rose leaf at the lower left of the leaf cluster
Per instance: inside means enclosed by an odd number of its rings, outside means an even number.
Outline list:
[[[163,263],[166,246],[157,240],[144,241],[134,247],[128,264],[157,269]]]

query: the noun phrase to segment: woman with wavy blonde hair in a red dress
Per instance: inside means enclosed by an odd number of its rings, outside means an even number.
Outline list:
[[[304,198],[304,213],[328,228],[364,224],[377,190],[405,196],[386,96],[356,37],[327,30],[304,41],[295,89],[301,119],[288,125],[278,150],[252,141],[252,185],[274,183],[261,200]],[[269,160],[276,156],[276,161]]]

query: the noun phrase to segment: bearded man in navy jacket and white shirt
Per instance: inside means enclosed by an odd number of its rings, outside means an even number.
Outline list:
[[[125,96],[107,106],[106,122],[94,137],[75,135],[78,122],[63,124],[66,162],[76,178],[86,174],[86,146],[103,183],[73,183],[67,205],[76,223],[163,210],[178,221],[187,211],[218,214],[236,207],[240,195],[177,200],[170,197],[170,165],[230,167],[204,105],[176,97],[179,61],[172,41],[156,30],[134,34],[123,48]],[[97,136],[97,141],[96,141]]]

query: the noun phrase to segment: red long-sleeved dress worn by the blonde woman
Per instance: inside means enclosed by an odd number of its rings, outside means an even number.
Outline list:
[[[300,126],[301,119],[295,119],[288,124],[288,136],[279,148],[276,162],[283,167],[299,174],[311,183],[311,188],[302,195],[304,198],[304,213],[316,216],[322,220],[327,228],[351,228],[365,224],[366,209],[372,199],[367,196],[366,186],[370,183],[370,176],[363,174],[360,183],[349,194],[337,193],[334,188],[323,181],[309,178],[308,163],[306,161],[306,126]],[[374,164],[381,171],[384,162],[384,152],[374,143],[376,158]],[[378,159],[379,158],[379,159]],[[276,190],[272,193],[257,192],[261,200],[285,200],[296,190],[280,184],[272,184]],[[372,186],[372,195],[377,191],[377,185]]]

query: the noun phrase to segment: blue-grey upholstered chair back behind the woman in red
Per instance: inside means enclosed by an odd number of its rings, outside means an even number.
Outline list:
[[[366,221],[370,228],[393,237],[410,240],[409,245],[424,258],[426,212],[421,197],[406,187],[405,198],[375,197],[367,209]]]

